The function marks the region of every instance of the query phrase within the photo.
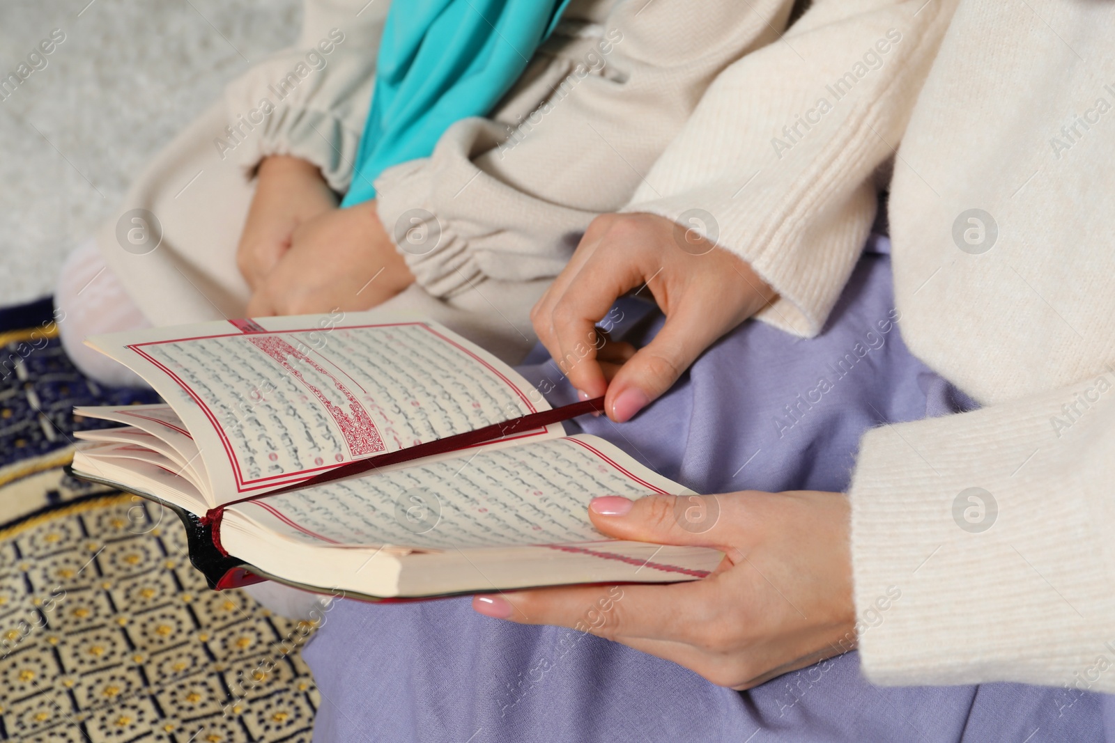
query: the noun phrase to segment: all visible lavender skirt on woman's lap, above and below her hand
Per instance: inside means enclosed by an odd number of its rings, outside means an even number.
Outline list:
[[[581,426],[699,492],[842,490],[866,428],[967,404],[905,350],[893,307],[889,258],[865,254],[817,339],[747,323],[633,421]],[[553,364],[532,358],[524,375],[571,401]],[[337,602],[306,658],[320,741],[1104,740],[1093,695],[875,687],[855,653],[740,694],[591,635],[482,617],[467,598]]]

